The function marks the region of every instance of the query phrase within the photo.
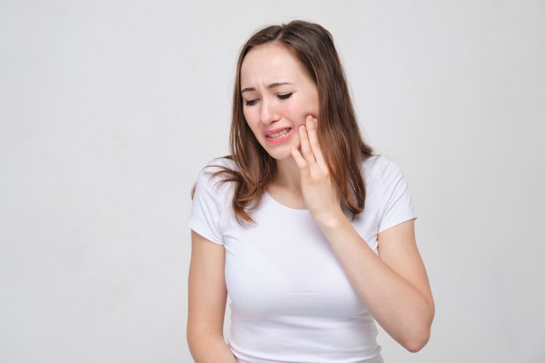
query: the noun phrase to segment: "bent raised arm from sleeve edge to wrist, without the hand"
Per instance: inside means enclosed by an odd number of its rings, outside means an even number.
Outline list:
[[[435,306],[414,237],[414,219],[379,233],[380,257],[346,216],[318,224],[375,320],[409,352],[421,350],[429,340]]]

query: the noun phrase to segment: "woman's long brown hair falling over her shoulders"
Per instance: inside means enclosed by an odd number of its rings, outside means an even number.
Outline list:
[[[259,206],[266,187],[275,177],[276,162],[258,143],[244,118],[241,65],[253,47],[273,42],[290,50],[316,84],[319,94],[318,141],[320,145],[327,145],[322,146],[322,152],[331,176],[339,186],[348,209],[355,216],[365,208],[365,177],[361,164],[373,155],[373,149],[361,138],[333,37],[316,23],[294,20],[280,26],[267,26],[258,30],[243,45],[236,65],[233,90],[229,136],[231,155],[224,156],[233,160],[238,170],[209,165],[221,168],[211,175],[221,174],[224,177],[221,183],[234,183],[232,207],[238,223],[241,224],[239,218],[255,223],[248,211]],[[192,198],[194,190],[195,185],[191,191]]]

